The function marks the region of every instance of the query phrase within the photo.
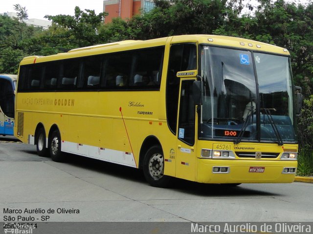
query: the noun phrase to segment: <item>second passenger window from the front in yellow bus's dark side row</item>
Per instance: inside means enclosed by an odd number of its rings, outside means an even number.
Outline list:
[[[109,54],[105,70],[106,87],[128,87],[132,68],[131,52]]]

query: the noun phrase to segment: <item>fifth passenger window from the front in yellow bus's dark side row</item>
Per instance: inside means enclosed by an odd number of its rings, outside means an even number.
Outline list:
[[[47,62],[45,64],[45,75],[44,75],[44,89],[45,90],[56,90],[57,80],[60,76],[60,69],[58,62]]]

